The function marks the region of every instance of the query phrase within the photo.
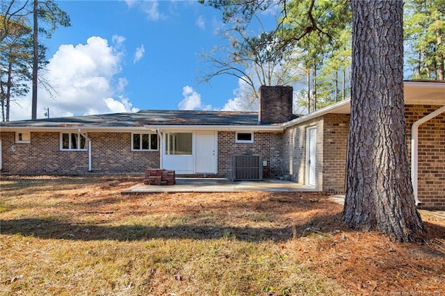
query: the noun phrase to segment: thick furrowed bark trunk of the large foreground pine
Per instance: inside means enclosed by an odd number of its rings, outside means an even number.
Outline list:
[[[353,76],[343,221],[411,242],[424,233],[405,140],[403,2],[353,0]]]

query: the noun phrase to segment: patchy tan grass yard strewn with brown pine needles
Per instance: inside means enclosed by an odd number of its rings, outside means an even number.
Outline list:
[[[0,295],[445,290],[445,221],[426,212],[428,240],[398,244],[316,193],[120,195],[140,181],[2,176]]]

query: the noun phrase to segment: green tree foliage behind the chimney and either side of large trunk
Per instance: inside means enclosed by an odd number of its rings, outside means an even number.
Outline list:
[[[229,24],[227,31],[240,32],[227,34],[226,47],[213,49],[211,54],[203,54],[211,61],[204,81],[222,74],[223,65],[242,73],[249,81],[250,99],[256,99],[256,89],[261,83],[285,85],[305,85],[298,87],[298,106],[307,111],[322,108],[341,99],[350,97],[352,9],[350,0],[201,0],[202,3],[218,8],[223,14],[223,22]],[[414,53],[405,61],[405,79],[443,79],[444,6],[445,0],[407,0],[404,6],[405,44]],[[274,28],[264,31],[248,30],[261,17],[273,11],[277,15]],[[267,38],[265,38],[267,37]],[[235,42],[233,40],[236,40]],[[249,51],[236,51],[236,47],[249,48]],[[268,62],[273,67],[268,74],[275,79],[252,79],[257,74],[251,71],[249,63],[236,63],[237,60],[251,60],[251,54],[267,48]],[[226,54],[218,55],[218,51]],[[236,56],[229,54],[236,51]],[[266,60],[266,59],[264,59]],[[218,66],[217,66],[218,65]],[[263,67],[264,64],[259,64]],[[407,72],[412,69],[412,73]],[[267,72],[267,71],[264,71]],[[293,73],[293,79],[280,79],[280,74]],[[247,74],[248,77],[245,75]],[[266,81],[266,82],[264,82]],[[249,105],[251,106],[251,105]]]

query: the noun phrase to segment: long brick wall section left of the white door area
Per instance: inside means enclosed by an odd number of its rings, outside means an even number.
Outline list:
[[[131,151],[131,133],[88,133],[88,151],[60,151],[60,133],[31,133],[31,144],[16,144],[15,133],[1,133],[3,172],[10,174],[143,174],[159,167],[159,151]],[[11,147],[15,145],[16,150]]]

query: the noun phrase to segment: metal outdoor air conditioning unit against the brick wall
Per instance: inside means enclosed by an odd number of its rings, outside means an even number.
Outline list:
[[[232,179],[234,180],[262,180],[263,158],[261,155],[232,156]]]

